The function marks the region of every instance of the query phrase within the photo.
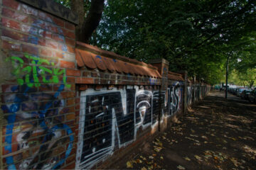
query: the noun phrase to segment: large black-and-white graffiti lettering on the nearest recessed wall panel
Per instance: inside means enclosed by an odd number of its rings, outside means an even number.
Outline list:
[[[90,169],[115,149],[136,139],[139,129],[158,122],[159,91],[87,89],[81,93],[76,169]],[[168,110],[168,92],[161,91],[161,119]]]

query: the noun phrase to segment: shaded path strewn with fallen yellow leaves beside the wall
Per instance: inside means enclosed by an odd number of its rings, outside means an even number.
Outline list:
[[[256,105],[213,91],[135,154],[119,169],[256,169]]]

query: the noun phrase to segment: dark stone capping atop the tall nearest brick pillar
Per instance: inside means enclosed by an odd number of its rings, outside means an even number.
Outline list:
[[[17,1],[21,1],[30,6],[39,8],[42,11],[46,11],[50,14],[53,14],[54,16],[63,18],[66,21],[69,21],[70,23],[74,23],[75,25],[78,25],[77,13],[74,13],[69,8],[66,8],[63,5],[58,4],[53,0],[17,0]]]

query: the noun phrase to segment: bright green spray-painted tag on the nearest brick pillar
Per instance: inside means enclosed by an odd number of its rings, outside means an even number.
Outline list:
[[[49,62],[46,59],[33,57],[31,55],[25,55],[25,57],[31,61],[28,66],[24,64],[24,61],[20,57],[12,56],[6,59],[6,62],[11,60],[14,66],[12,74],[17,77],[18,85],[27,84],[29,87],[38,87],[41,86],[41,82],[58,84],[59,77],[63,76],[63,84],[67,88],[70,88],[71,85],[67,84],[65,69],[44,67],[43,65],[53,67],[55,64],[54,62]]]

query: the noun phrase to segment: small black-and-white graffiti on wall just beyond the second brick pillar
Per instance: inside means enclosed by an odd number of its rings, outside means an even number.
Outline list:
[[[181,86],[179,82],[176,82],[169,88],[170,102],[169,102],[169,114],[177,113],[181,109]]]

